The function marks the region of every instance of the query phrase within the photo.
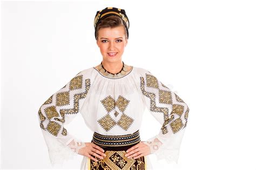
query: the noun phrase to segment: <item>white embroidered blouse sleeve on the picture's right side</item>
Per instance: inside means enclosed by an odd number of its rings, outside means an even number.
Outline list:
[[[178,164],[179,149],[187,125],[189,108],[179,96],[146,71],[140,77],[140,90],[147,109],[162,125],[160,132],[144,141],[157,160]]]

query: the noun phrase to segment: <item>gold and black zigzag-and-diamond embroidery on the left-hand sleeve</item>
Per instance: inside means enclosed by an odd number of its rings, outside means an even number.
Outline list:
[[[68,134],[63,126],[65,117],[67,114],[77,114],[79,112],[81,107],[79,101],[86,98],[90,89],[90,79],[84,79],[83,74],[79,76],[78,74],[62,89],[52,94],[38,110],[40,127],[56,137],[60,134],[64,136]],[[46,127],[44,124],[46,124]]]

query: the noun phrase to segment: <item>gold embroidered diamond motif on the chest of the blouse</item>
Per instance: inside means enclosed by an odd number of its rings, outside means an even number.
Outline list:
[[[127,131],[134,121],[131,117],[124,113],[126,107],[130,103],[130,100],[119,95],[115,101],[114,98],[109,95],[100,101],[105,107],[107,114],[98,120],[99,125],[104,128],[105,131],[111,130],[111,128],[113,128],[115,125],[118,125],[119,127],[123,128],[123,130]],[[118,121],[115,121],[109,114],[116,107],[122,112],[122,115]],[[119,113],[115,110],[114,116],[117,117],[118,115]]]

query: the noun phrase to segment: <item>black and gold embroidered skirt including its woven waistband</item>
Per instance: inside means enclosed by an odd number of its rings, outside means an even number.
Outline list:
[[[146,169],[146,159],[144,156],[137,159],[125,157],[126,150],[140,142],[139,130],[132,134],[111,136],[95,132],[91,142],[103,148],[106,157],[99,159],[92,155],[98,161],[88,158],[87,165],[89,169]]]

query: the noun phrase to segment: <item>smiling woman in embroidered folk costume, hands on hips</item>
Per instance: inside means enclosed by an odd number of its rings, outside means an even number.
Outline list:
[[[105,8],[95,16],[95,37],[102,62],[80,71],[39,108],[38,118],[51,164],[83,155],[81,169],[150,169],[147,155],[178,161],[189,108],[152,73],[124,64],[129,19],[123,9]],[[162,125],[141,141],[145,107]],[[79,141],[64,127],[80,112],[92,130]]]

